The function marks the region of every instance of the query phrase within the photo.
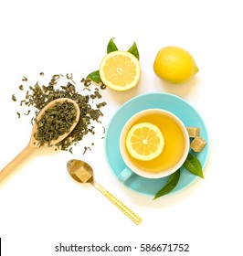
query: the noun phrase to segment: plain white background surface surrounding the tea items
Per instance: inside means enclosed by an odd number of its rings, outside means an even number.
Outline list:
[[[103,152],[102,130],[82,155],[40,150],[0,184],[0,237],[4,256],[96,255],[55,252],[63,245],[188,243],[186,255],[242,253],[242,5],[241,1],[1,1],[0,4],[0,168],[27,144],[28,118],[18,119],[11,100],[22,76],[39,79],[72,72],[79,80],[99,68],[115,37],[120,49],[136,41],[142,77],[136,89],[103,91],[108,106],[102,125],[122,103],[144,92],[174,93],[204,118],[210,138],[205,180],[180,193],[152,200],[123,187]],[[195,57],[195,79],[168,85],[153,73],[157,51],[176,45]],[[100,130],[99,130],[100,129]],[[93,142],[90,138],[88,143]],[[75,183],[66,169],[71,158],[93,166],[101,185],[143,218],[126,218],[90,185]],[[117,252],[117,254],[119,254]],[[146,255],[167,255],[147,252]],[[168,252],[168,255],[184,255]]]

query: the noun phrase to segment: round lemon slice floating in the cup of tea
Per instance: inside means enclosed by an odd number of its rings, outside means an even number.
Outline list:
[[[126,148],[135,159],[153,160],[163,152],[164,135],[153,123],[134,124],[127,133]]]

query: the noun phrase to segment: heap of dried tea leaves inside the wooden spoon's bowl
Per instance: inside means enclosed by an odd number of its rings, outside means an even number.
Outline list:
[[[70,127],[76,122],[77,111],[71,102],[58,102],[48,109],[37,122],[37,132],[34,134],[38,145],[51,145],[64,133],[69,133]]]

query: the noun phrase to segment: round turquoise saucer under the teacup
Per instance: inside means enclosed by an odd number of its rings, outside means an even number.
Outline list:
[[[193,152],[193,154],[196,155],[204,168],[208,156],[208,135],[202,118],[185,100],[173,94],[155,92],[145,93],[125,102],[111,118],[111,122],[106,129],[105,155],[113,174],[118,177],[122,173],[122,170],[127,167],[122,159],[119,149],[119,139],[122,127],[135,113],[152,108],[172,112],[185,124],[185,126],[200,128],[200,136],[206,140],[206,146],[202,152]],[[151,179],[133,174],[122,184],[135,192],[146,196],[154,196],[162,187],[164,187],[168,178],[169,176]],[[185,167],[182,166],[180,180],[171,193],[189,186],[196,178],[198,177],[189,173]]]

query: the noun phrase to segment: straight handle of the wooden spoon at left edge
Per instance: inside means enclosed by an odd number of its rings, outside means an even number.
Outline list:
[[[16,155],[16,157],[8,165],[6,165],[4,169],[0,171],[0,182],[5,178],[5,176],[10,174],[17,165],[19,165],[23,160],[25,160],[26,157],[30,155],[32,151],[33,148],[27,145],[24,150],[22,150],[18,155]]]

